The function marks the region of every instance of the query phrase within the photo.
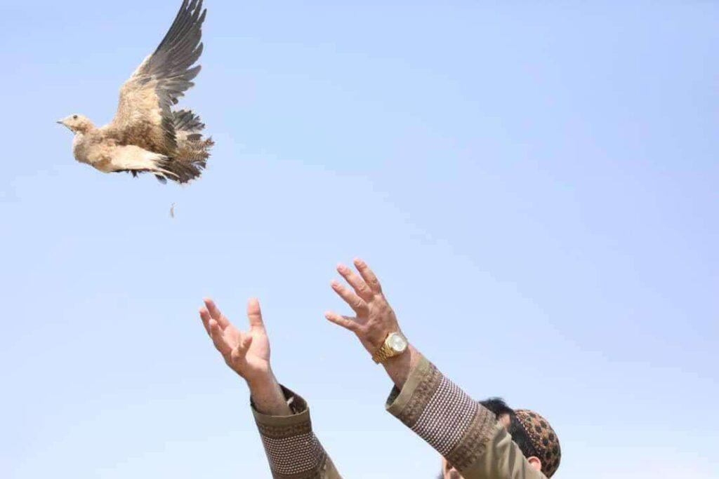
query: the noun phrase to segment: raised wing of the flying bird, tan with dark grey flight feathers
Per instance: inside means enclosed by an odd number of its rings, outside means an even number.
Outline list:
[[[170,108],[191,88],[202,54],[202,24],[207,10],[203,0],[184,0],[175,22],[152,55],[120,88],[115,118],[107,126],[124,144],[152,152],[172,152],[177,147]]]

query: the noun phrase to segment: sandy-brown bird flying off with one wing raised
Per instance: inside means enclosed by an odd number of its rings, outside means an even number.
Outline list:
[[[203,51],[202,24],[207,9],[203,0],[184,0],[175,21],[155,52],[120,88],[114,118],[96,127],[81,114],[57,123],[73,132],[73,156],[104,173],[148,172],[162,183],[187,183],[206,167],[211,138],[200,117],[188,109],[175,109],[180,97],[194,86],[200,73],[195,65]]]

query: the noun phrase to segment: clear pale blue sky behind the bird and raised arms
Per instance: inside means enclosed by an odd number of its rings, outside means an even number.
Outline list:
[[[109,121],[179,4],[0,6],[2,477],[269,477],[196,315],[257,295],[344,477],[434,478],[322,316],[354,256],[468,393],[551,420],[555,477],[715,477],[719,4],[207,0],[202,179],[76,163],[54,121]]]

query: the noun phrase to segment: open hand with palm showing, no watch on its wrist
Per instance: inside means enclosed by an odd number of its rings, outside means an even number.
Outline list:
[[[204,302],[205,307],[200,308],[202,323],[227,366],[248,382],[270,374],[270,340],[262,322],[260,302],[250,299],[247,303],[247,331],[232,325],[212,299]]]

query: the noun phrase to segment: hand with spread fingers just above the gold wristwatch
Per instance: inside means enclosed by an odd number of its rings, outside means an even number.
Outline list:
[[[383,345],[387,335],[390,332],[400,331],[400,327],[395,312],[382,292],[377,276],[361,259],[355,259],[354,266],[361,277],[344,264],[337,266],[337,271],[352,286],[354,292],[338,281],[333,281],[331,285],[334,292],[354,310],[356,316],[326,312],[325,317],[334,324],[354,332],[365,349],[373,354]]]

